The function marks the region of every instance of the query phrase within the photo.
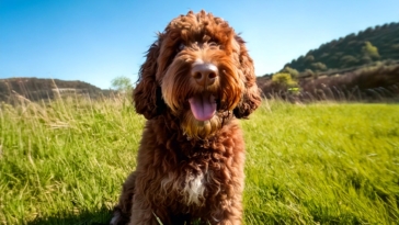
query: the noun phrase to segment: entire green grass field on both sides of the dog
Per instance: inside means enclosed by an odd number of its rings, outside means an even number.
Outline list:
[[[125,100],[0,106],[0,224],[101,224],[135,168]],[[264,102],[242,121],[246,224],[398,224],[399,105]]]

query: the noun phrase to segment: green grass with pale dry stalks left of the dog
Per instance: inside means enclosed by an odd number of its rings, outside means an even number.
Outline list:
[[[2,104],[0,223],[55,224],[65,217],[75,224],[104,211],[107,220],[135,168],[142,124],[124,99]]]

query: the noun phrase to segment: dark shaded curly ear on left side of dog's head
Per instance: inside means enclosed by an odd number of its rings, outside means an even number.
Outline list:
[[[166,106],[162,100],[161,87],[156,78],[157,58],[161,45],[160,34],[158,37],[158,41],[147,52],[146,61],[141,65],[137,86],[133,92],[136,112],[142,114],[147,120],[161,114]]]

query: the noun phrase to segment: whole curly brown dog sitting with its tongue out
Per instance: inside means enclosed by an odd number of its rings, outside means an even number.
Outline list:
[[[241,224],[237,119],[261,103],[243,40],[205,11],[172,20],[147,53],[134,102],[148,121],[111,224]]]

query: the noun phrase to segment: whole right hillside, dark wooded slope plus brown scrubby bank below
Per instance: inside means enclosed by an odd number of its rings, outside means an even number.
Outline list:
[[[264,97],[292,102],[399,101],[399,23],[322,44],[256,82]]]

